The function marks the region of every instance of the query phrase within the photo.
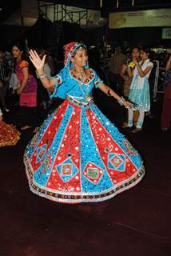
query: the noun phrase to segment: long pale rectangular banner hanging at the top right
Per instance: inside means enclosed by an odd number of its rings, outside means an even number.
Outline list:
[[[171,9],[137,10],[109,14],[109,29],[142,26],[170,26]]]

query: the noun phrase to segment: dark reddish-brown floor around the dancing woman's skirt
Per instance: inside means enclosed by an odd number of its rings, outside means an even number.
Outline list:
[[[125,112],[111,100],[99,104],[120,129]],[[33,136],[0,148],[2,256],[171,255],[171,133],[160,129],[161,102],[141,133],[121,130],[145,162],[145,178],[101,203],[65,205],[29,190],[22,155]]]

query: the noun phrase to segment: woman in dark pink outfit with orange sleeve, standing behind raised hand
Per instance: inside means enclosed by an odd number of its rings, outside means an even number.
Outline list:
[[[17,93],[21,110],[20,126],[22,130],[39,126],[37,110],[37,81],[29,72],[29,62],[26,61],[25,46],[17,42],[12,47],[15,58],[15,74],[18,77]]]

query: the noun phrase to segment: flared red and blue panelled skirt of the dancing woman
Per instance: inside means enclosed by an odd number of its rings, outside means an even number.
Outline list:
[[[30,190],[55,202],[101,202],[145,175],[141,156],[93,103],[66,99],[24,155]]]

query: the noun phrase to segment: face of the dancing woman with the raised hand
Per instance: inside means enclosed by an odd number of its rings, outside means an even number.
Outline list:
[[[79,48],[76,51],[76,54],[73,56],[71,61],[73,62],[74,66],[82,67],[85,66],[88,60],[87,52],[83,48]]]

